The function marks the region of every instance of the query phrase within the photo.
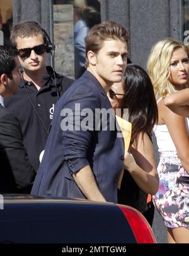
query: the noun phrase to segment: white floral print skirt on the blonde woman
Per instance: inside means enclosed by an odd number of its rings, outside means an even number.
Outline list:
[[[189,229],[189,175],[175,151],[160,153],[159,190],[152,200],[168,228]]]

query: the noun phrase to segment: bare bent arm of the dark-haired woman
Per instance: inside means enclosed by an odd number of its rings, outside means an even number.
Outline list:
[[[140,189],[149,194],[156,194],[159,187],[156,162],[154,159],[154,149],[147,134],[139,135],[137,147],[132,146],[131,154],[125,154],[125,168],[130,172]]]

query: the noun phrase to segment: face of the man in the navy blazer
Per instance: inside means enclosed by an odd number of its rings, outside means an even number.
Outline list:
[[[102,86],[112,86],[122,81],[127,66],[127,43],[120,40],[105,40],[95,54],[95,70]]]

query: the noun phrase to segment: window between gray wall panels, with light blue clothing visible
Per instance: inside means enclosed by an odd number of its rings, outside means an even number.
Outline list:
[[[100,0],[54,0],[55,70],[78,78],[84,69],[85,38],[100,23]]]

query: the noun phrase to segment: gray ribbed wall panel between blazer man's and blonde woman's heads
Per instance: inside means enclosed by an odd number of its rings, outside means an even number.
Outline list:
[[[101,19],[116,20],[130,33],[130,59],[146,68],[152,45],[180,39],[179,0],[101,0]]]

